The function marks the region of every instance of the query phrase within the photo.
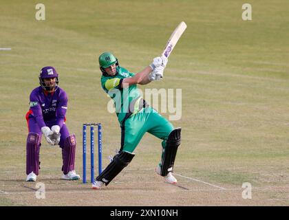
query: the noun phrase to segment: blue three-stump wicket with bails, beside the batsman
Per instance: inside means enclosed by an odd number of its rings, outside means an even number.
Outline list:
[[[98,126],[98,175],[102,172],[102,126],[101,123],[83,124],[83,184],[86,184],[86,132],[87,126],[90,126],[90,181],[94,181],[94,126]]]

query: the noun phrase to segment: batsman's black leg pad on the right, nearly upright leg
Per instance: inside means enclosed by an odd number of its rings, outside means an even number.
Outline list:
[[[169,134],[166,147],[164,148],[164,155],[162,157],[161,175],[166,176],[173,171],[173,164],[175,163],[175,156],[177,155],[178,146],[181,142],[181,128],[174,129]]]

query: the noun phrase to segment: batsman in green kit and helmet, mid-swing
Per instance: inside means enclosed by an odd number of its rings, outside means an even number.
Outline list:
[[[102,72],[101,85],[114,100],[116,107],[121,128],[121,145],[110,164],[96,177],[92,188],[100,189],[104,184],[107,186],[131,162],[135,156],[134,149],[147,132],[162,140],[162,157],[156,173],[168,183],[176,184],[173,165],[180,146],[181,128],[174,129],[166,118],[145,102],[137,88],[138,84],[147,85],[153,80],[161,80],[167,58],[153,58],[151,65],[137,74],[120,67],[118,59],[109,52],[101,54],[98,61]]]

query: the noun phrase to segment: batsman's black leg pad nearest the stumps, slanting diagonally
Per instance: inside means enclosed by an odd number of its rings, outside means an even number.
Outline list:
[[[103,181],[105,186],[109,184],[109,182],[120,173],[120,171],[125,168],[135,156],[134,153],[129,153],[127,151],[120,151],[117,155],[114,156],[114,159],[110,162],[110,164],[103,170],[103,173],[100,173],[98,177],[96,177],[97,181]]]

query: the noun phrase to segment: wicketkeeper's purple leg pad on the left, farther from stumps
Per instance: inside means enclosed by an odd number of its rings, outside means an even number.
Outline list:
[[[28,133],[26,141],[26,174],[39,175],[39,148],[41,137],[38,133]]]

